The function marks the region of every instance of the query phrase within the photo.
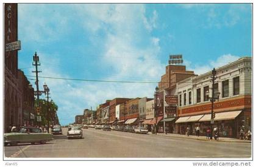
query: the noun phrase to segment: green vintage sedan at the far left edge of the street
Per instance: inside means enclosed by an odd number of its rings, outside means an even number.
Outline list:
[[[22,127],[19,132],[4,134],[4,146],[17,145],[18,143],[35,143],[45,144],[47,141],[54,140],[52,134],[43,133],[36,127]]]

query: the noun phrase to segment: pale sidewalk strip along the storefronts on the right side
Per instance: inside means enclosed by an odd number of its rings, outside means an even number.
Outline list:
[[[149,132],[149,135],[155,135]],[[219,140],[210,140],[207,139],[206,136],[199,136],[197,137],[196,135],[181,135],[181,134],[163,134],[163,133],[157,133],[157,135],[160,136],[165,136],[165,137],[174,137],[174,138],[187,138],[187,139],[192,139],[192,140],[203,140],[203,141],[227,141],[227,142],[244,142],[244,143],[251,143],[252,141],[249,140],[239,140],[237,138],[228,138],[228,137],[219,137]]]

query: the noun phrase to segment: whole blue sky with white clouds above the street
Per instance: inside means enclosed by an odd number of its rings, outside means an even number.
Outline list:
[[[251,4],[19,4],[18,26],[18,67],[35,75],[37,52],[42,77],[160,81],[169,54],[182,54],[197,74],[252,55]],[[157,86],[39,81],[61,124],[107,99],[153,97]]]

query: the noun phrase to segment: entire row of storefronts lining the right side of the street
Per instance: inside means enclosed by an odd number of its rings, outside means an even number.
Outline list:
[[[240,128],[251,129],[252,123],[252,60],[243,57],[216,69],[213,126],[218,127],[221,137],[238,137]],[[154,98],[115,98],[99,105],[98,121],[110,126],[140,126],[149,131],[185,134],[189,127],[191,135],[206,135],[211,125],[212,103],[206,92],[212,93],[212,72],[195,75],[185,66],[168,65]],[[101,106],[109,105],[108,113]],[[104,114],[104,115],[102,115]],[[106,117],[108,121],[102,119]]]

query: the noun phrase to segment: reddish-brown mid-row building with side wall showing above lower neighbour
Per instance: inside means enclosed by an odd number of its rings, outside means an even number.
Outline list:
[[[116,118],[116,106],[118,104],[124,103],[125,101],[130,100],[130,98],[115,98],[109,103],[109,117],[110,122],[113,124],[117,121]]]

